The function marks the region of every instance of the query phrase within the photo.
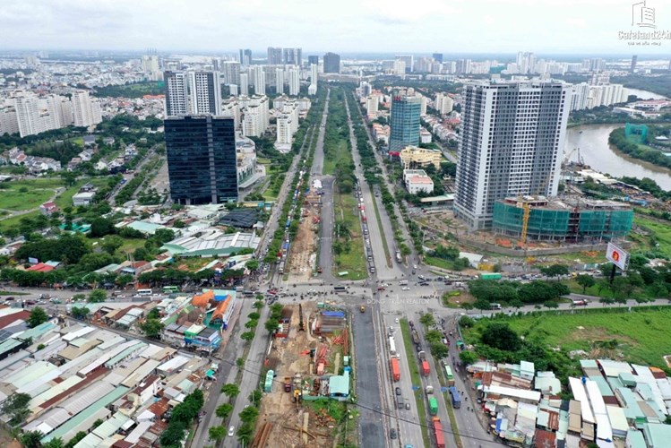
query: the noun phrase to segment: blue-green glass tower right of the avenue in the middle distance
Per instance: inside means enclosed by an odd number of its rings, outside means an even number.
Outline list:
[[[419,144],[419,114],[422,99],[394,96],[391,99],[389,151],[400,151]]]

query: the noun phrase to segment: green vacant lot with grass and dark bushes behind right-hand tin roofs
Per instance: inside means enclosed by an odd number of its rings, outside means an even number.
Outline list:
[[[577,359],[612,358],[671,370],[663,357],[671,353],[667,306],[615,307],[566,312],[495,314],[460,321],[465,342],[481,358],[495,362],[534,362],[537,370],[580,375]],[[523,338],[523,339],[522,339]],[[573,350],[580,350],[572,358]]]

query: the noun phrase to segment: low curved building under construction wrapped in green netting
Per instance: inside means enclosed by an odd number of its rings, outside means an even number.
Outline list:
[[[625,237],[632,230],[632,208],[622,202],[523,196],[495,202],[495,233],[520,238],[526,208],[529,241],[602,241]]]

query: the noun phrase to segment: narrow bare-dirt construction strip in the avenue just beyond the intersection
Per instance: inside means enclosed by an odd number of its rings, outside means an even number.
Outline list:
[[[319,211],[317,207],[312,205],[305,205],[305,211],[307,216],[303,217],[298,226],[298,233],[289,253],[290,282],[297,283],[310,280],[317,258],[319,224],[314,223],[314,217],[319,217]]]

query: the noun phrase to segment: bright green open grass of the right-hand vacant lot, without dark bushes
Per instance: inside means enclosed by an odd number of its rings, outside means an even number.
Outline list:
[[[626,307],[581,310],[569,313],[538,313],[514,316],[504,322],[529,339],[538,336],[551,348],[585,350],[590,357],[621,358],[633,363],[667,367],[662,357],[671,355],[671,308]],[[478,321],[464,337],[469,343],[487,320]],[[606,350],[598,342],[616,340],[615,349]],[[622,356],[620,356],[622,355]]]

